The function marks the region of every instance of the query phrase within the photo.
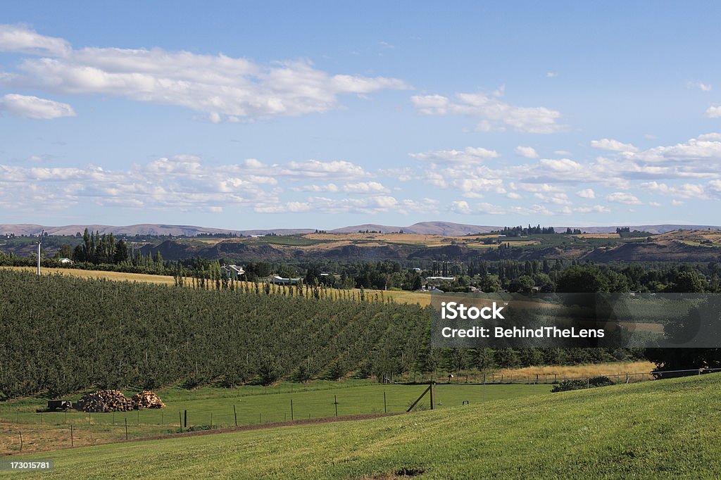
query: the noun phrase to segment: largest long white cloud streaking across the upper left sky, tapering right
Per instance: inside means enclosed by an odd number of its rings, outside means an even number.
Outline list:
[[[328,74],[309,61],[263,65],[246,58],[162,48],[72,49],[65,40],[25,27],[0,26],[0,50],[47,55],[25,58],[10,86],[61,94],[102,94],[204,112],[213,123],[326,112],[342,94],[407,89],[399,79]]]

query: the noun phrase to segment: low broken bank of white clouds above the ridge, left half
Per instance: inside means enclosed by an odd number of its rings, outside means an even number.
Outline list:
[[[293,198],[281,199],[286,190],[317,191],[319,189],[314,185],[306,185],[309,179],[355,179],[366,175],[363,169],[346,161],[288,162],[268,166],[250,159],[235,164],[210,165],[193,155],[162,157],[114,170],[98,166],[0,164],[0,204],[32,206],[52,201],[64,208],[94,204],[211,213],[220,211],[218,208],[296,213],[307,211],[312,205]],[[339,190],[335,184],[324,185],[324,190]],[[369,208],[386,209],[393,204],[388,197],[378,197],[367,203]]]

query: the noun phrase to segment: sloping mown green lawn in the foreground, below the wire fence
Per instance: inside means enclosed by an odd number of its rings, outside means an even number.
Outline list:
[[[48,478],[67,479],[717,478],[720,389],[721,375],[702,375],[13,458],[52,458]]]

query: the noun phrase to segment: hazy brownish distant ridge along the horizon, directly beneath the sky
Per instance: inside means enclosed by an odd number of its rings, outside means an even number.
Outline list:
[[[536,222],[538,223],[538,222]],[[508,225],[510,226],[510,225]],[[647,231],[651,234],[664,234],[672,230],[717,230],[721,226],[714,225],[681,225],[677,223],[664,223],[660,225],[623,225],[628,226],[631,230]],[[137,225],[128,226],[111,226],[111,225],[66,225],[66,226],[43,226],[27,223],[19,224],[0,224],[0,235],[38,235],[41,231],[48,232],[49,235],[74,235],[77,232],[82,233],[85,228],[92,231],[99,231],[101,234],[125,234],[128,236],[135,235],[171,235],[171,236],[198,236],[203,234],[236,234],[236,235],[293,235],[293,234],[310,234],[316,231],[316,228],[257,228],[250,230],[230,230],[227,228],[209,228],[192,225],[169,225],[164,223],[138,223]],[[556,231],[563,232],[566,228],[579,228],[581,231],[589,234],[612,234],[616,232],[617,226],[554,226]],[[469,225],[466,223],[453,223],[443,221],[429,221],[414,223],[410,226],[388,226],[376,223],[363,223],[362,225],[345,226],[329,230],[330,233],[355,233],[358,231],[379,231],[387,234],[397,231],[404,231],[406,234],[419,235],[443,235],[443,236],[462,236],[472,234],[483,234],[494,230],[499,230],[500,226],[487,225]]]

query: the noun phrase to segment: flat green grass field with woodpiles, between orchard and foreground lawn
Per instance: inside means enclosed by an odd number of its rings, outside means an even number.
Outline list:
[[[87,414],[83,412],[37,412],[45,399],[27,398],[0,403],[0,454],[20,448],[23,432],[28,450],[51,450],[70,442],[69,427],[74,426],[75,445],[93,445],[125,439],[168,435],[180,431],[179,414],[187,410],[187,427],[231,427],[283,422],[291,419],[324,418],[337,415],[404,412],[425,390],[425,385],[383,385],[371,381],[314,381],[307,385],[281,383],[278,386],[242,386],[239,388],[203,387],[195,390],[163,388],[157,393],[164,409],[134,412]],[[490,385],[437,386],[435,404],[439,409],[528,395],[548,394],[551,386]],[[484,391],[485,390],[485,391]],[[132,396],[136,391],[123,391]],[[79,394],[68,396],[76,401]],[[291,399],[293,408],[291,412]],[[428,408],[426,396],[420,408]]]

